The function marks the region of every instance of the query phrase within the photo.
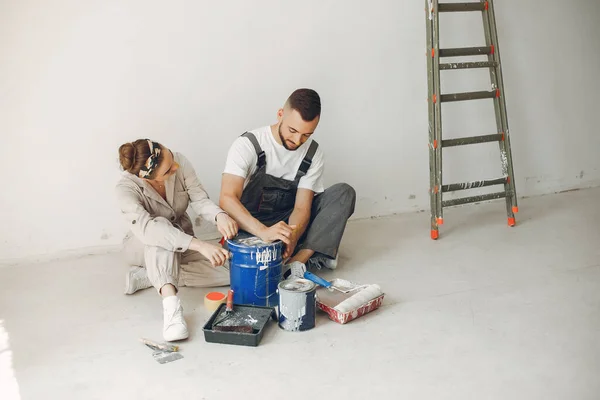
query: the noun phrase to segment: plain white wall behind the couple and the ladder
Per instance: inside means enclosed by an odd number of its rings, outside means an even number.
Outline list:
[[[599,2],[496,8],[519,195],[600,184]],[[442,28],[444,47],[483,44],[478,15]],[[427,209],[424,36],[418,0],[0,0],[0,259],[119,243],[117,148],[139,137],[184,152],[216,200],[231,141],[297,87],[322,96],[326,180],[356,187],[356,217]],[[488,88],[449,73],[446,91]],[[495,130],[491,103],[443,116],[447,137]],[[446,182],[500,173],[494,144],[445,161]]]

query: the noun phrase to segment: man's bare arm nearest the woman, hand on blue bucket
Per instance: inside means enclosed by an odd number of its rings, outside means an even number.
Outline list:
[[[244,191],[245,179],[232,175],[223,174],[221,180],[221,196],[219,205],[227,212],[240,226],[241,229],[258,236],[265,242],[281,240],[289,245],[292,239],[294,227],[290,227],[285,222],[279,222],[270,228],[267,228],[244,207],[240,199]],[[310,210],[310,209],[309,209]]]

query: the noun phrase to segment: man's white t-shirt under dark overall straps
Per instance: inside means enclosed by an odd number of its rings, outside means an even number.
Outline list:
[[[296,173],[298,172],[298,168],[300,168],[304,156],[308,152],[312,139],[308,139],[298,149],[290,151],[275,141],[270,126],[250,132],[256,136],[260,147],[265,152],[267,174],[293,181],[296,178]],[[233,142],[229,149],[224,173],[245,178],[245,188],[252,175],[256,172],[257,161],[258,155],[250,140],[240,136]],[[323,152],[318,147],[308,172],[300,178],[298,188],[309,189],[315,193],[323,192],[325,190],[323,187],[323,169]]]

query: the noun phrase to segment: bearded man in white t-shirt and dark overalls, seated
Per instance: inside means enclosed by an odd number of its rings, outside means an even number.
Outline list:
[[[298,89],[277,111],[277,123],[246,132],[229,150],[220,206],[240,229],[263,241],[281,240],[284,260],[337,266],[338,248],[356,193],[345,184],[323,187],[323,153],[312,140],[321,100]]]

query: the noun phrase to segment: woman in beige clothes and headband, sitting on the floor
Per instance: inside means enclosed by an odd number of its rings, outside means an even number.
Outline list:
[[[133,266],[125,293],[154,286],[163,297],[165,340],[186,339],[178,287],[229,284],[229,272],[216,268],[224,265],[229,253],[195,238],[186,210],[191,206],[228,239],[237,234],[238,226],[208,198],[183,155],[139,139],[119,148],[119,160],[125,172],[117,184],[117,198],[131,229],[125,254]]]

